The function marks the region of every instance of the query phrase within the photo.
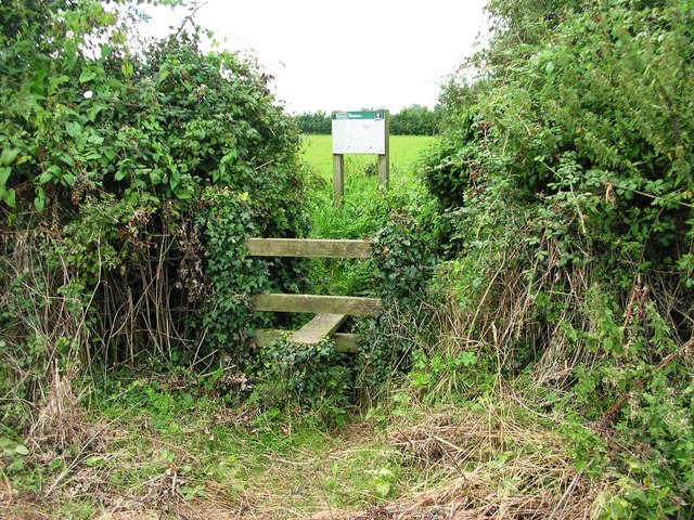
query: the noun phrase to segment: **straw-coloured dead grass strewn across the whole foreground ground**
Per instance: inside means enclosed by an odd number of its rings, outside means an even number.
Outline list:
[[[576,471],[564,439],[505,405],[489,404],[484,412],[422,407],[416,418],[387,418],[385,432],[355,421],[325,434],[323,442],[290,452],[241,444],[237,453],[215,454],[176,444],[146,420],[99,424],[80,408],[66,380],[56,379],[52,387],[27,444],[37,465],[64,456],[72,446],[65,470],[38,495],[20,495],[9,480],[0,482],[1,520],[70,518],[63,506],[80,502],[93,505],[98,520],[588,519],[604,489]],[[196,428],[203,430],[204,420],[209,417],[201,417]],[[232,428],[236,419],[230,414],[215,420],[228,420]],[[163,451],[174,460],[167,467],[153,464]],[[205,496],[185,499],[182,490],[195,482],[180,472],[181,465],[200,469],[229,455],[245,468],[243,477],[210,476],[203,481]],[[100,464],[86,464],[94,456]],[[350,481],[384,465],[399,468],[390,503]],[[146,474],[155,466],[160,470],[144,480],[114,481],[124,468]]]

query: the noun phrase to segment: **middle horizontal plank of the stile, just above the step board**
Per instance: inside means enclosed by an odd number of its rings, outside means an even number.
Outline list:
[[[378,298],[284,294],[256,295],[253,297],[253,303],[258,311],[348,314],[350,316],[373,316],[383,307]]]

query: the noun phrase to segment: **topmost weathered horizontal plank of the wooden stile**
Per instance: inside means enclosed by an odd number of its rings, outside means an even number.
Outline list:
[[[252,257],[369,258],[369,240],[317,238],[248,238],[244,242]]]

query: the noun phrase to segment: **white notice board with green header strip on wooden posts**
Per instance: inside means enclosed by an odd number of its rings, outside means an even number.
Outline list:
[[[333,113],[333,154],[386,153],[386,113]]]

